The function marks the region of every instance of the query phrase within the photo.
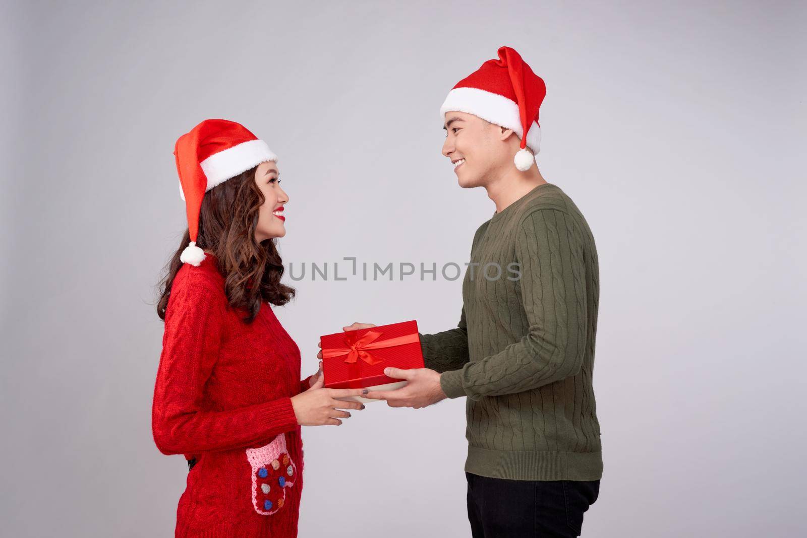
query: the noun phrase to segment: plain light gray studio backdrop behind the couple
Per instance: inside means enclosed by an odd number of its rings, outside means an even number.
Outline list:
[[[583,536],[804,533],[804,4],[287,3],[2,3],[0,534],[174,530],[187,467],[150,412],[179,134],[231,118],[280,155],[286,263],[462,264],[494,208],[437,111],[504,44],[546,80],[539,166],[600,252]],[[277,309],[303,375],[353,321],[458,321],[460,279],[332,271]],[[300,536],[469,536],[463,415],[304,428]]]

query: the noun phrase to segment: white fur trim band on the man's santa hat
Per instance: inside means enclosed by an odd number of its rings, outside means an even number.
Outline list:
[[[518,104],[498,93],[491,93],[478,88],[454,88],[445,97],[440,107],[440,115],[445,122],[445,113],[457,111],[474,114],[486,122],[512,129],[521,139],[521,117],[518,114]],[[527,131],[527,147],[534,154],[541,149],[541,127],[533,121]]]

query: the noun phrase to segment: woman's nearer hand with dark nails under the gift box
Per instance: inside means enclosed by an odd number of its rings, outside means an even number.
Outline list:
[[[291,397],[297,424],[301,426],[338,426],[342,424],[340,419],[350,416],[349,412],[341,409],[364,409],[364,403],[345,402],[337,398],[366,395],[366,389],[324,388],[324,383],[325,380],[320,375],[311,388]]]

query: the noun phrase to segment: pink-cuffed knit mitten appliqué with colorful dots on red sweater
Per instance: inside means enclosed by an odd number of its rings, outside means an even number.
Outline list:
[[[261,515],[271,515],[286,502],[286,488],[294,486],[297,466],[286,449],[286,434],[281,433],[269,445],[247,449],[252,466],[253,507]]]

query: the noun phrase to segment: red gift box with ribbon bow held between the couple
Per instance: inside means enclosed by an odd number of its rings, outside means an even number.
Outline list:
[[[327,388],[394,390],[405,380],[384,375],[384,368],[423,368],[417,321],[403,321],[320,337]],[[366,401],[366,399],[360,399]],[[375,400],[371,400],[375,401]]]

